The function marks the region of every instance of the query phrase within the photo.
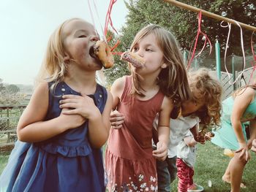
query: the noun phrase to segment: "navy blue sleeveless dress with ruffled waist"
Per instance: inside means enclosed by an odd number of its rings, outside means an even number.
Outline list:
[[[60,115],[59,101],[64,94],[80,95],[65,82],[59,82],[54,96],[49,91],[45,120]],[[106,89],[97,85],[90,97],[103,112]],[[18,141],[0,176],[0,191],[105,191],[102,150],[91,147],[88,133],[86,121],[44,142]]]

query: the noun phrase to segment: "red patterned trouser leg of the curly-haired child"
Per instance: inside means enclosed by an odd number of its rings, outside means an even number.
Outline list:
[[[187,192],[187,188],[193,184],[194,169],[187,166],[181,158],[177,158],[178,192]]]

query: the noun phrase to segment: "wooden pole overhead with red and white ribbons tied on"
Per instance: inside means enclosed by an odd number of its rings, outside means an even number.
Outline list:
[[[193,12],[200,12],[200,11],[201,11],[201,12],[202,12],[202,15],[206,15],[206,16],[208,16],[209,18],[214,18],[214,19],[217,19],[217,20],[225,20],[225,21],[227,21],[228,23],[232,23],[232,24],[234,24],[234,25],[237,25],[237,24],[236,24],[236,21],[233,20],[233,19],[225,18],[225,17],[222,17],[222,16],[220,16],[220,15],[214,14],[214,13],[212,13],[212,12],[207,12],[207,11],[205,11],[205,10],[203,10],[203,9],[198,9],[197,7],[193,7],[193,6],[188,5],[188,4],[184,4],[184,3],[181,3],[181,2],[178,2],[178,1],[175,1],[175,0],[164,0],[164,1],[166,1],[166,2],[168,2],[168,3],[170,3],[170,4],[174,4],[174,5],[176,5],[177,7],[181,7],[181,8],[183,8],[183,9],[188,9],[188,10],[193,11]],[[237,23],[239,23],[239,25],[240,25],[241,27],[247,28],[247,29],[249,29],[249,30],[251,30],[251,31],[256,31],[256,27],[255,27],[255,26],[249,26],[249,25],[247,25],[247,24],[244,24],[244,23],[241,23],[241,22],[238,22],[238,21],[237,21]]]

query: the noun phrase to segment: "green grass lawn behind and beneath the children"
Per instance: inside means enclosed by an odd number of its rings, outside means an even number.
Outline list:
[[[195,183],[202,185],[205,191],[230,191],[230,185],[222,182],[222,174],[225,172],[230,158],[223,155],[223,150],[211,142],[206,142],[206,145],[197,145],[197,163],[195,165]],[[256,191],[256,154],[252,154],[252,160],[244,169],[243,181],[246,188],[241,189],[241,192]],[[0,155],[0,173],[7,164],[8,154]],[[211,188],[208,187],[208,180],[211,180]],[[172,191],[177,191],[176,179],[172,183]]]

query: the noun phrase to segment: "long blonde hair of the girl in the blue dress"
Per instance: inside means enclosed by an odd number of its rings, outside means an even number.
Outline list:
[[[42,62],[41,69],[37,75],[37,82],[52,82],[57,85],[58,82],[64,80],[64,76],[67,74],[67,66],[64,63],[64,26],[72,20],[81,20],[79,18],[72,18],[64,21],[56,30],[51,34],[48,41],[45,57]]]

